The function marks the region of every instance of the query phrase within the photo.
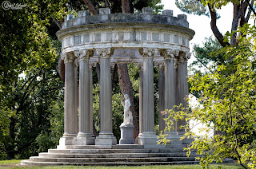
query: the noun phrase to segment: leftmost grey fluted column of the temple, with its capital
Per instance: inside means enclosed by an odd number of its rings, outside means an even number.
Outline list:
[[[78,133],[78,114],[75,105],[74,82],[74,53],[62,55],[65,63],[65,92],[64,92],[64,135],[74,137]]]

